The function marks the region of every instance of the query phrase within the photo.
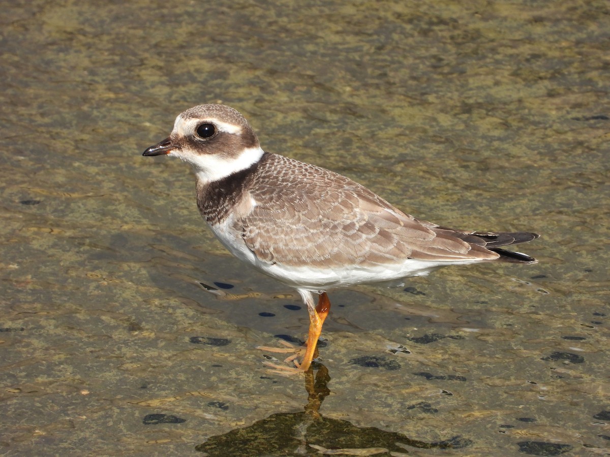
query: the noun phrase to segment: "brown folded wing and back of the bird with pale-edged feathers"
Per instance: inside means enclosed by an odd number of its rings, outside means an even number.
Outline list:
[[[235,221],[262,261],[332,267],[500,257],[480,236],[418,221],[342,175],[269,156],[250,190],[256,207]]]

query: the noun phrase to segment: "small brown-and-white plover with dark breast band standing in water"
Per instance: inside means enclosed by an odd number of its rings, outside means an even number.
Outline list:
[[[536,262],[500,248],[536,233],[468,232],[415,219],[345,176],[263,151],[246,119],[224,105],[179,115],[169,138],[143,155],[162,154],[195,169],[197,206],[221,243],[303,297],[307,349],[287,371],[310,366],[330,308],[327,289],[454,264]]]

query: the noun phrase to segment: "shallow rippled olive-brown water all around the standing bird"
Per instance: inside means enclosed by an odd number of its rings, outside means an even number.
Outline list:
[[[1,453],[607,453],[609,12],[5,6]],[[141,157],[218,101],[420,218],[542,233],[540,263],[333,291],[328,374],[269,374],[300,300],[213,239],[187,166]]]

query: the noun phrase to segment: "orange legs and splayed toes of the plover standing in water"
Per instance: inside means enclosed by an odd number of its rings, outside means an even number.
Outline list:
[[[301,349],[294,348],[282,348],[276,349],[271,347],[259,346],[258,349],[269,350],[271,352],[293,352],[294,354],[287,359],[285,362],[292,361],[295,364],[295,368],[285,367],[276,365],[270,362],[265,362],[265,365],[270,366],[274,371],[280,374],[292,374],[306,372],[311,365],[312,360],[317,356],[317,345],[318,338],[322,332],[322,325],[328,316],[328,311],[331,309],[331,302],[328,299],[326,292],[321,292],[320,298],[318,299],[318,305],[314,305],[314,299],[312,293],[309,291],[301,293],[304,302],[307,305],[307,311],[309,312],[309,332],[307,335],[307,341],[305,342],[306,347]],[[285,343],[287,344],[287,343]],[[287,344],[288,345],[288,344]],[[304,352],[301,363],[298,363],[296,359]]]

